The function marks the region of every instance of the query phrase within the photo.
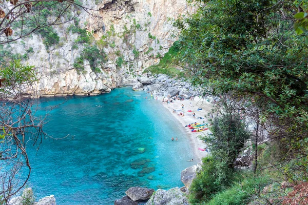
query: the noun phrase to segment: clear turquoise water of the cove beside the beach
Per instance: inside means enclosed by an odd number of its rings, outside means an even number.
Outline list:
[[[145,99],[147,97],[147,99]],[[160,101],[131,88],[99,96],[41,98],[37,114],[47,117],[36,153],[28,147],[37,199],[56,203],[113,204],[129,187],[183,186],[180,173],[193,165],[188,139]],[[170,138],[178,137],[178,141]]]

